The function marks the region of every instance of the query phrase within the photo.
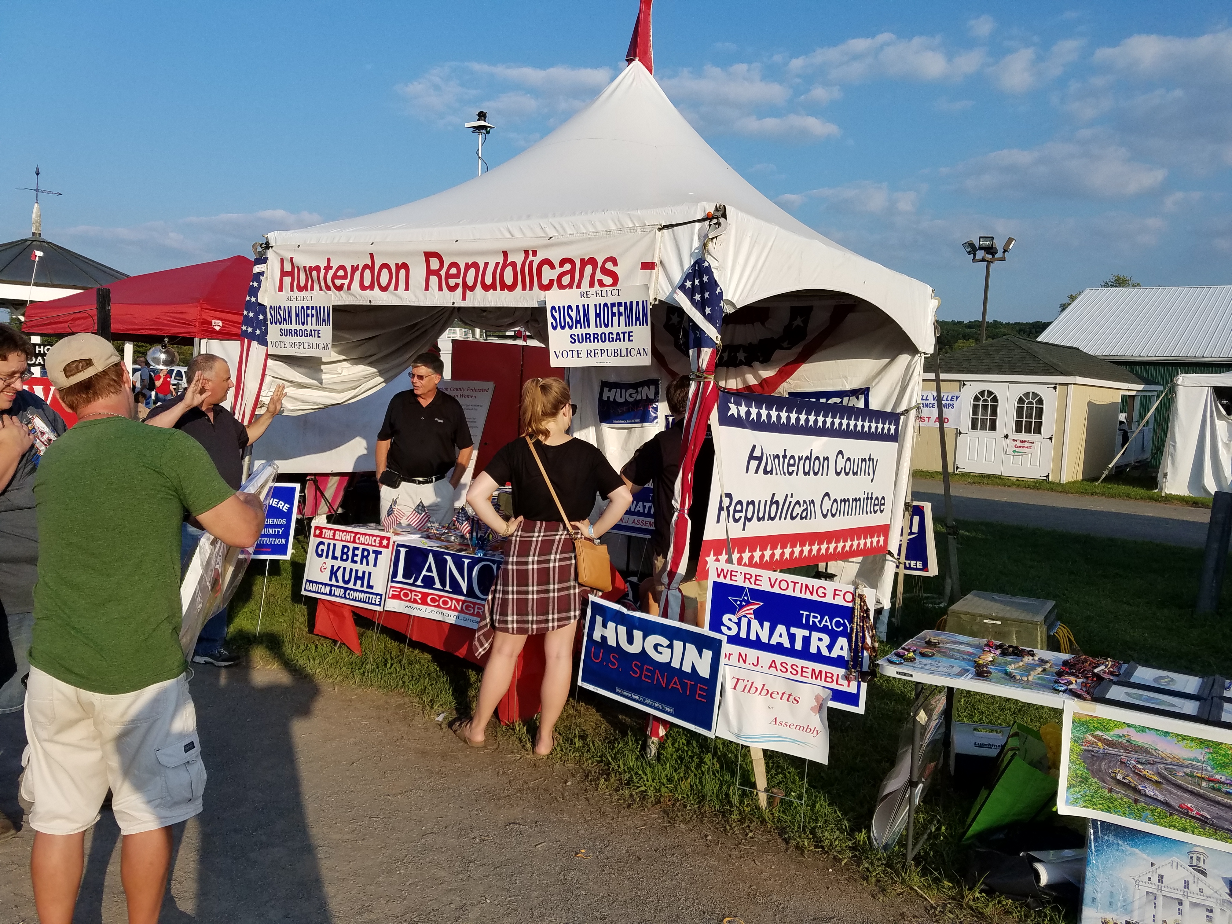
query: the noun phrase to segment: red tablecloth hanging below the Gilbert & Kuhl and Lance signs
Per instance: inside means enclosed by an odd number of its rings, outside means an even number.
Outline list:
[[[423,616],[409,616],[404,612],[391,612],[389,610],[365,610],[360,606],[336,602],[333,600],[317,601],[317,622],[313,632],[325,638],[341,642],[356,654],[361,654],[360,633],[355,628],[355,614],[372,620],[381,626],[386,626],[394,632],[410,638],[413,642],[431,646],[442,652],[466,658],[472,664],[483,665],[488,658],[476,658],[471,650],[471,639],[474,638],[474,630],[464,626],[455,626],[440,620],[429,620]],[[514,668],[514,680],[509,685],[496,715],[505,724],[517,719],[527,721],[533,718],[540,711],[540,685],[543,683],[543,636],[531,636],[526,639],[522,653],[517,657],[517,665]]]

